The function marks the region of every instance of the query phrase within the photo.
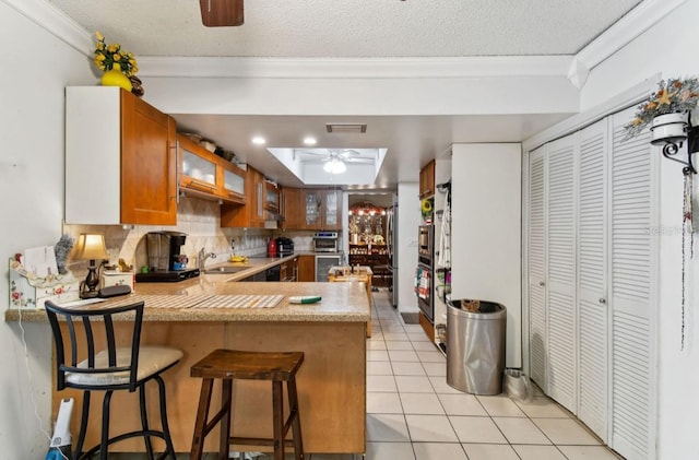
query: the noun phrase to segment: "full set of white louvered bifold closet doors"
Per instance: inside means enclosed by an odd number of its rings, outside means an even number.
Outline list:
[[[631,111],[530,152],[530,375],[612,448],[655,458],[657,273],[648,134]]]

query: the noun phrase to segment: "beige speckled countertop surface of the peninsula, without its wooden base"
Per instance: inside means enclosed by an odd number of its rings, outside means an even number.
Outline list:
[[[359,283],[236,282],[254,273],[291,260],[284,258],[250,258],[244,263],[216,263],[241,267],[237,273],[200,274],[176,283],[137,283],[128,296],[114,297],[95,306],[125,302],[145,302],[144,321],[351,321],[370,320],[366,291]],[[216,307],[230,296],[272,296],[283,298],[271,308]],[[291,304],[292,296],[311,295],[322,299],[316,304]],[[21,314],[21,315],[20,315]],[[44,310],[8,309],[5,321],[46,321]]]

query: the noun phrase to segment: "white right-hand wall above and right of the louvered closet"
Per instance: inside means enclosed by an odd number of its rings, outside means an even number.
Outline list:
[[[645,78],[699,75],[699,0],[688,0],[663,21],[596,67],[582,91],[582,108],[599,105]],[[656,149],[659,150],[659,149]],[[657,152],[660,154],[660,151]],[[682,330],[682,166],[661,161],[659,437],[661,460],[696,457],[699,399],[699,257],[688,263],[687,329]],[[699,181],[694,178],[695,203]],[[697,235],[695,235],[697,238]],[[699,238],[697,238],[699,239]],[[695,249],[697,250],[697,249]]]

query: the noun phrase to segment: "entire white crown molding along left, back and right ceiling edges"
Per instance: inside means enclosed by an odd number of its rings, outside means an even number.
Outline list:
[[[566,76],[581,89],[600,62],[687,0],[644,0],[574,56],[454,58],[139,57],[140,75],[171,78],[481,78]],[[92,34],[44,0],[0,0],[79,52],[92,57]]]

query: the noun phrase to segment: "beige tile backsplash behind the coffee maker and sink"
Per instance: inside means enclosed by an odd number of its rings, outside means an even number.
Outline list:
[[[235,250],[236,255],[257,256],[266,253],[270,237],[286,236],[294,239],[295,250],[312,249],[312,232],[288,232],[270,228],[221,228],[220,204],[197,198],[180,198],[177,209],[177,225],[154,226],[133,225],[126,228],[119,225],[64,225],[63,233],[75,240],[81,233],[100,232],[105,234],[109,262],[123,259],[139,269],[147,264],[145,234],[158,231],[176,231],[187,234],[181,252],[189,258],[188,267],[197,267],[197,255],[201,248],[216,253],[216,259],[206,260],[208,264],[227,260]],[[235,249],[232,249],[232,241]],[[74,274],[86,271],[87,262],[71,260],[68,268]]]

